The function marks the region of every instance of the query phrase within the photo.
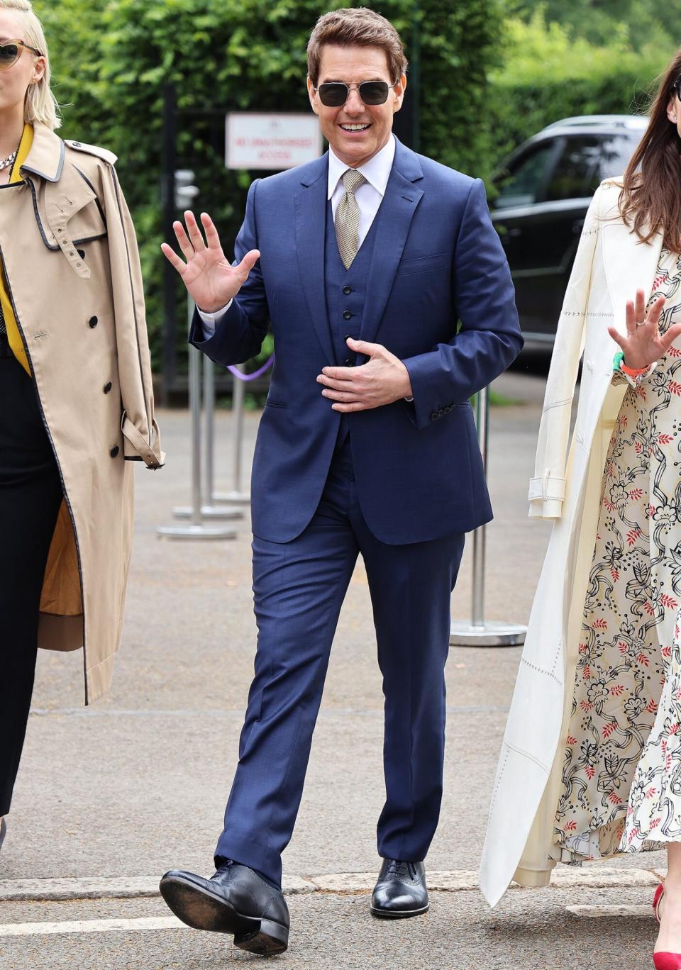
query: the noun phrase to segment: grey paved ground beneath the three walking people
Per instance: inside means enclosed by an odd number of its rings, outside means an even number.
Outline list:
[[[487,531],[487,615],[524,623],[548,536],[546,524],[528,522],[526,503],[543,380],[521,370],[500,379],[497,390],[517,404],[492,411],[489,479],[497,519]],[[257,419],[247,415],[248,456]],[[251,959],[229,940],[167,924],[92,922],[167,919],[157,898],[2,901],[3,889],[23,879],[146,877],[152,885],[170,866],[211,871],[252,671],[248,518],[237,523],[235,541],[157,537],[156,527],[173,521],[172,507],[189,498],[188,416],[163,413],[161,426],[167,468],[138,469],[137,532],[112,693],[85,710],[80,655],[40,658],[0,855],[2,968],[217,967]],[[223,489],[231,483],[225,412],[217,416],[217,438]],[[470,550],[452,613],[470,615]],[[284,858],[291,885],[294,877],[376,870],[374,824],[383,791],[374,652],[359,564],[340,618],[299,823]],[[445,792],[428,860],[432,871],[476,869],[519,656],[518,648],[451,652]],[[640,919],[637,910],[578,919],[568,906],[647,907],[652,889],[639,885],[632,870],[664,861],[663,854],[617,860],[612,868],[621,872],[619,881],[601,889],[514,889],[492,914],[476,889],[437,892],[427,918],[398,924],[370,919],[365,889],[294,895],[292,947],[279,961],[296,970],[405,964],[633,970],[652,962],[647,908]],[[87,921],[89,931],[65,932],[62,925],[61,932],[44,934],[46,923],[73,921]],[[6,935],[18,932],[19,923],[43,926]]]

